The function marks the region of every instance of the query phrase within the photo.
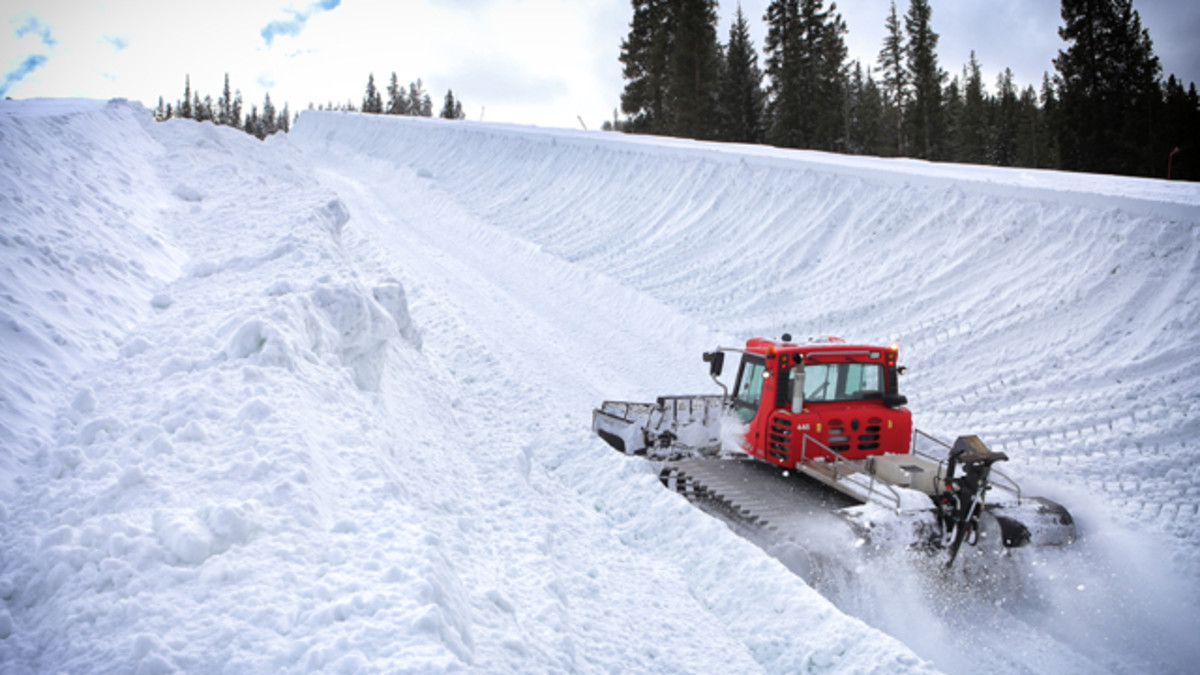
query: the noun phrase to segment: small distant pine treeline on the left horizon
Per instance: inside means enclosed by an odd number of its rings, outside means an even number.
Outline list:
[[[366,91],[362,96],[362,104],[358,106],[353,101],[346,103],[308,103],[310,110],[344,110],[364,112],[391,115],[433,117],[433,101],[425,91],[424,83],[418,79],[402,86],[391,73],[391,82],[388,84],[388,100],[384,101],[374,84],[374,74],[367,77]],[[212,96],[200,96],[199,91],[192,91],[192,78],[184,78],[184,97],[174,103],[164,103],[162,96],[158,97],[158,107],[155,109],[155,119],[158,121],[172,118],[193,119],[198,121],[211,121],[214,124],[240,129],[246,133],[258,138],[266,138],[276,131],[287,133],[294,121],[288,113],[287,103],[276,110],[271,103],[271,95],[268,92],[263,98],[263,108],[251,106],[246,113],[242,103],[241,90],[230,92],[229,74],[224,76],[224,89],[221,96],[214,102]],[[462,102],[456,100],[454,91],[446,91],[439,117],[445,119],[464,119]]]

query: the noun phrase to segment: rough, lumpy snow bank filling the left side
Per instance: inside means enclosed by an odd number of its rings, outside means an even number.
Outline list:
[[[7,412],[32,431],[5,442],[0,669],[454,662],[438,629],[458,608],[421,599],[448,575],[414,478],[377,466],[410,447],[379,442],[373,400],[419,377],[419,334],[403,288],[350,264],[344,204],[286,143],[60,108],[0,115],[26,153],[6,155],[24,179],[5,233],[42,256],[8,268],[6,311],[72,335],[55,354],[4,342],[5,400],[42,368],[52,412]]]

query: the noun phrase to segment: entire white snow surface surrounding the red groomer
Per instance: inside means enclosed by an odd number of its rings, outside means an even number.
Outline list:
[[[124,101],[0,102],[0,671],[1200,658],[1196,185]],[[592,436],[784,331],[899,340],[1080,540],[814,589]]]

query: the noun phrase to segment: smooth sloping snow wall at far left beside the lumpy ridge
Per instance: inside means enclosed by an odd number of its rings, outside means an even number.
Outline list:
[[[156,211],[168,196],[136,106],[0,104],[0,496],[67,382],[149,315],[181,253]]]

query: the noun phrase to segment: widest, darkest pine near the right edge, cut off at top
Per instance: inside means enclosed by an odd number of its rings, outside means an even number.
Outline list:
[[[1063,168],[1162,174],[1152,156],[1160,66],[1132,0],[1062,0],[1062,20],[1068,47],[1055,68]]]

